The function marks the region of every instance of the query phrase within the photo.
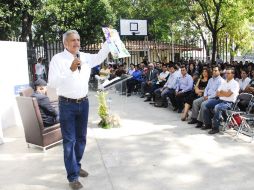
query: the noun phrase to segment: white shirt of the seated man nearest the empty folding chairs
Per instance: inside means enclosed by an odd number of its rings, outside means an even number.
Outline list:
[[[228,91],[231,90],[233,94],[229,97],[222,96],[220,97],[221,100],[228,101],[228,102],[235,102],[237,96],[239,95],[239,84],[235,79],[231,79],[230,81],[224,80],[222,81],[218,91]]]

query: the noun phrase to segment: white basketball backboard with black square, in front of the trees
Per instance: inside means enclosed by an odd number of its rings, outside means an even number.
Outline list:
[[[147,20],[121,19],[121,36],[147,36]]]

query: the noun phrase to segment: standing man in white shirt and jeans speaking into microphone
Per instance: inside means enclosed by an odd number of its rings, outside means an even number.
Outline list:
[[[53,56],[49,66],[49,86],[59,96],[60,125],[63,136],[64,163],[72,189],[82,188],[79,177],[88,173],[81,168],[86,146],[89,102],[88,82],[91,68],[108,56],[106,42],[98,54],[79,52],[80,36],[69,30],[63,35],[64,51]]]

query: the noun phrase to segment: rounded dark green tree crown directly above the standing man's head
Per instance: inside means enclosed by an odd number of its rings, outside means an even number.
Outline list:
[[[112,25],[114,13],[107,0],[48,0],[37,15],[36,39],[61,39],[69,29],[76,29],[81,43],[94,43],[102,38],[101,26]],[[45,31],[47,31],[45,33]]]

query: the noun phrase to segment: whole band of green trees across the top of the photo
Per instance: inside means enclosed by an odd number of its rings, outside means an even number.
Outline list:
[[[153,40],[227,37],[231,52],[253,46],[253,0],[0,0],[0,40],[40,42],[76,29],[82,42],[102,38],[101,26],[119,29],[119,19],[147,19]],[[209,52],[207,52],[209,54]]]

